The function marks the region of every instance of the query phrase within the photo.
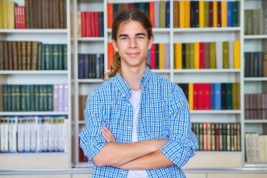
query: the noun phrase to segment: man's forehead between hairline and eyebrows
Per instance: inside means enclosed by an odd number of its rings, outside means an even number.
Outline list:
[[[138,21],[127,21],[123,22],[118,26],[117,36],[121,34],[135,35],[136,33],[144,33],[147,35],[146,30],[142,26],[142,24]]]

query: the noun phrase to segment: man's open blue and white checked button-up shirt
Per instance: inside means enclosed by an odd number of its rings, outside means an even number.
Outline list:
[[[167,138],[167,144],[160,151],[174,163],[160,169],[147,169],[147,174],[149,177],[185,177],[181,168],[195,155],[197,147],[187,99],[178,85],[153,73],[147,66],[140,87],[138,141]],[[103,125],[110,129],[116,142],[131,142],[131,95],[130,86],[118,73],[88,95],[84,110],[86,130],[79,137],[90,163],[107,143],[102,136]],[[128,170],[113,166],[94,165],[92,177],[127,177],[127,173]]]

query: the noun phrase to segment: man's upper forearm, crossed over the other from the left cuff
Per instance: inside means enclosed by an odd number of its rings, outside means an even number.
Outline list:
[[[153,153],[159,148],[153,140],[133,143],[107,143],[93,158],[98,166],[121,166],[136,158]]]

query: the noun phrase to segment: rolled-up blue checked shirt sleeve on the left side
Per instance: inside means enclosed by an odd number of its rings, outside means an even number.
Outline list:
[[[92,159],[101,151],[107,143],[102,136],[102,126],[104,123],[104,111],[99,98],[91,93],[86,100],[84,109],[86,130],[80,132],[80,147],[88,162],[93,163]]]

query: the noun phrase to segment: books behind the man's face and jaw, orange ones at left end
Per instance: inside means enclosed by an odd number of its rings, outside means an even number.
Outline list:
[[[108,43],[108,69],[113,62],[114,48],[112,43]],[[152,69],[170,69],[170,44],[157,43],[152,44],[151,49],[147,52],[148,64]]]

